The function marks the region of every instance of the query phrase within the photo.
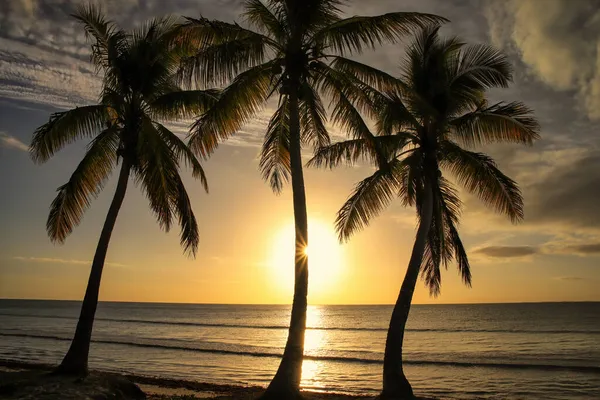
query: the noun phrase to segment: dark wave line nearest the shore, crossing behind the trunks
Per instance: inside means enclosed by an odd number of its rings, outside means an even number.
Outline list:
[[[35,334],[22,334],[22,333],[0,333],[0,336],[8,337],[23,337],[23,338],[36,338],[36,339],[51,339],[59,341],[70,341],[70,337],[54,336],[54,335],[35,335]],[[198,348],[191,346],[177,346],[177,345],[166,345],[157,343],[145,343],[145,342],[131,342],[121,340],[105,340],[105,339],[92,339],[94,343],[103,344],[116,344],[123,346],[135,346],[145,348],[156,348],[165,350],[182,350],[182,351],[193,351],[199,353],[212,353],[212,354],[223,354],[223,355],[237,355],[237,356],[248,356],[248,357],[264,357],[264,358],[280,358],[279,353],[269,352],[253,352],[253,351],[236,351],[236,350],[225,350],[225,349],[210,349],[210,348]],[[337,357],[337,356],[311,356],[305,355],[305,360],[312,361],[331,361],[341,363],[357,363],[357,364],[382,364],[382,360],[376,359],[365,359],[359,357]],[[498,369],[527,369],[527,370],[544,370],[544,371],[572,371],[579,373],[593,373],[600,374],[600,366],[589,366],[589,365],[560,365],[560,364],[529,364],[529,363],[500,363],[500,362],[462,362],[462,361],[444,361],[444,360],[405,360],[407,365],[433,365],[433,366],[451,366],[451,367],[465,367],[465,368],[498,368]]]

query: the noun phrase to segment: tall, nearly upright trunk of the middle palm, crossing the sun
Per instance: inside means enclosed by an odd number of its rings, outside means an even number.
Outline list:
[[[308,296],[308,258],[305,253],[308,246],[308,217],[300,147],[299,93],[297,84],[292,83],[290,86],[290,163],[296,227],[294,301],[288,339],[281,363],[263,395],[263,399],[277,400],[292,400],[300,397]]]

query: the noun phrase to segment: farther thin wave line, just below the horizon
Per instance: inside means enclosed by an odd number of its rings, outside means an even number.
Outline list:
[[[50,319],[68,319],[75,320],[77,317],[54,316],[54,315],[33,315],[33,314],[14,314],[0,313],[0,316],[11,317],[29,317],[29,318],[50,318]],[[151,325],[170,325],[170,326],[197,326],[207,328],[237,328],[237,329],[265,329],[265,330],[287,330],[286,325],[259,325],[259,324],[229,324],[229,323],[210,323],[210,322],[191,322],[191,321],[164,321],[148,319],[126,319],[126,318],[102,318],[97,317],[96,321],[123,322]],[[316,331],[360,331],[360,332],[387,332],[387,328],[370,327],[342,327],[342,326],[308,326],[307,330]],[[439,333],[531,333],[531,334],[583,334],[600,335],[600,330],[566,330],[566,329],[476,329],[476,328],[407,328],[407,332],[439,332]]]

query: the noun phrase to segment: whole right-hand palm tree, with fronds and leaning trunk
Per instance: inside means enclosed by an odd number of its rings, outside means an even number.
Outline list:
[[[539,132],[532,110],[524,104],[490,105],[486,100],[487,90],[511,82],[507,58],[488,45],[440,38],[438,29],[427,28],[416,36],[400,79],[356,63],[336,64],[338,71],[360,78],[357,91],[366,93],[361,105],[375,119],[377,134],[364,125],[360,137],[323,148],[309,162],[334,167],[366,158],[377,167],[337,215],[341,240],[368,225],[396,196],[403,205],[416,206],[419,227],[387,334],[382,399],[413,398],[402,367],[402,344],[419,274],[436,296],[440,266],[455,260],[463,282],[471,285],[469,260],[458,233],[462,203],[441,170],[518,222],[523,219],[523,198],[516,182],[491,157],[466,148],[495,142],[532,144]]]

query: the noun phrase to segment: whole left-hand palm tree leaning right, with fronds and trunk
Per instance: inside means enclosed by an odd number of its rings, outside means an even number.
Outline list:
[[[104,260],[130,176],[145,192],[162,229],[168,231],[173,218],[178,219],[181,245],[195,256],[198,224],[179,175],[179,162],[191,167],[194,178],[207,190],[206,178],[186,144],[160,121],[198,115],[214,103],[216,93],[182,91],[176,85],[174,73],[184,52],[172,44],[170,19],[155,19],[127,33],[93,6],[82,6],[73,16],[91,39],[91,60],[103,74],[100,102],[53,114],[35,131],[30,152],[36,163],[44,163],[65,145],[92,138],[83,160],[71,179],[58,188],[50,207],[46,229],[50,239],[59,243],[79,224],[91,200],[121,163],[75,336],[56,370],[85,374]]]

